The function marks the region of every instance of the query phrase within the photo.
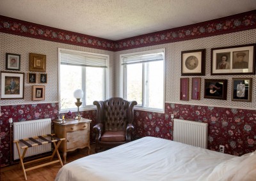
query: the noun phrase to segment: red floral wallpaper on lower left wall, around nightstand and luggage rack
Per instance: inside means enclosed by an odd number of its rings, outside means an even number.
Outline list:
[[[82,117],[92,120],[90,124],[90,141],[93,142],[92,127],[95,125],[96,110],[81,112]],[[51,118],[52,120],[58,117],[58,103],[45,103],[35,105],[12,105],[12,106],[1,106],[1,142],[0,142],[0,160],[1,166],[13,163],[10,160],[10,124],[9,118],[13,119],[13,122],[20,122],[26,120],[36,120]],[[74,118],[76,113],[72,113],[70,116],[65,114],[65,118]],[[52,124],[52,133],[54,127]]]

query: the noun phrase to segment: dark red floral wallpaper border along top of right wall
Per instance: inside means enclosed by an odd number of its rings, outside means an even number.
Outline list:
[[[115,41],[115,51],[192,40],[256,28],[256,10],[184,27],[167,29]]]

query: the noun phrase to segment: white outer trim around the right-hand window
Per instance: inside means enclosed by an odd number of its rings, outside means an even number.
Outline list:
[[[156,50],[148,50],[148,51],[143,51],[143,52],[134,52],[131,54],[120,54],[119,56],[119,69],[120,69],[120,97],[124,98],[124,69],[122,67],[122,58],[125,56],[132,56],[132,55],[141,55],[141,54],[154,54],[157,52],[163,52],[163,59],[164,59],[164,68],[163,68],[163,110],[159,110],[159,109],[154,109],[154,108],[143,108],[141,106],[134,106],[134,110],[141,110],[141,111],[146,111],[146,112],[156,112],[156,113],[164,113],[164,108],[165,108],[165,48],[161,48],[161,49],[156,49]]]

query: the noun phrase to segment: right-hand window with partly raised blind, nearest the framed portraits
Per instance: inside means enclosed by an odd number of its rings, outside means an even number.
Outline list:
[[[164,112],[164,49],[120,55],[121,95],[138,110]]]

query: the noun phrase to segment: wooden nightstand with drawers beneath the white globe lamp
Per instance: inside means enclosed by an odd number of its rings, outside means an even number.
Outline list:
[[[67,152],[74,151],[77,148],[88,147],[90,154],[90,119],[66,119],[65,124],[54,120],[54,133],[58,138],[66,138],[59,147],[63,152],[64,164],[66,163]]]

